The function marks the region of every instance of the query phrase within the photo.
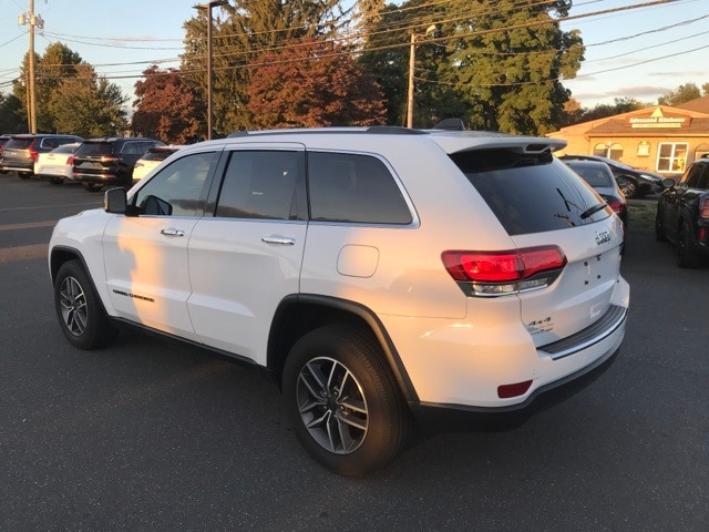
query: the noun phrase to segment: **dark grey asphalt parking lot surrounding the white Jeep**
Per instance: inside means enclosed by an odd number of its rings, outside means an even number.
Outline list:
[[[278,390],[199,349],[56,326],[53,222],[81,187],[0,176],[0,531],[709,530],[709,266],[630,227],[616,364],[524,426],[421,438],[367,479],[333,475]]]

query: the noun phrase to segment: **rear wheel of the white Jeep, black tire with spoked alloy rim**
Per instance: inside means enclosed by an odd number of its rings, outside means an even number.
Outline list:
[[[381,469],[409,437],[410,412],[381,348],[354,327],[326,326],[300,338],[286,360],[282,389],[300,443],[336,473]]]

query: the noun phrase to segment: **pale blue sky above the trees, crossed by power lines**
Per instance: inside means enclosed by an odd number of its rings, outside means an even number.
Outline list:
[[[657,0],[655,0],[657,1]],[[134,99],[134,83],[156,63],[178,66],[183,23],[198,1],[192,0],[34,0],[44,21],[34,49],[42,54],[60,41]],[[564,85],[582,106],[613,104],[631,98],[648,104],[681,84],[709,83],[709,1],[575,0],[565,31],[577,29],[586,45],[585,62]],[[28,25],[18,18],[30,0],[0,0],[0,92],[12,91],[29,49]],[[631,8],[621,10],[621,8]],[[219,8],[214,8],[215,18]]]

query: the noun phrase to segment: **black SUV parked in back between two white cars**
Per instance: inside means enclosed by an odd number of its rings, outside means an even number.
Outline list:
[[[163,145],[163,142],[154,139],[90,139],[84,141],[74,154],[74,181],[82,183],[90,192],[97,192],[105,185],[130,188],[137,160],[151,147]]]

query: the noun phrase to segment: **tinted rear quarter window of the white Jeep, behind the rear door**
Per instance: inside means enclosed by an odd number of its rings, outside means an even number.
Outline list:
[[[369,155],[308,154],[310,216],[323,222],[410,224],[411,212],[387,166]]]

